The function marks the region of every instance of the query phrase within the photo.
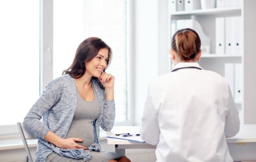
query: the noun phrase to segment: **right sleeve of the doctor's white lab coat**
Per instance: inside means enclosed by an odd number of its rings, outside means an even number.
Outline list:
[[[229,138],[235,136],[239,132],[240,128],[239,111],[236,108],[230,88],[227,100],[228,106],[225,121],[225,136],[226,138]]]

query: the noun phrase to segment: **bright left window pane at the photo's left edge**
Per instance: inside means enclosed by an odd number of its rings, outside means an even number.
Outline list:
[[[0,126],[23,121],[39,97],[39,1],[0,1]]]

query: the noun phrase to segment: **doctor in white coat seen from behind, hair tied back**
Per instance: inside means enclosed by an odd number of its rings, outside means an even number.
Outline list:
[[[203,70],[201,40],[190,28],[172,37],[172,72],[150,83],[141,138],[157,145],[158,162],[233,162],[226,139],[240,120],[227,80]]]

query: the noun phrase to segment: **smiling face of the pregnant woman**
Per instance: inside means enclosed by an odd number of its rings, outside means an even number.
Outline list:
[[[85,63],[85,74],[97,78],[100,77],[100,74],[106,69],[108,59],[109,50],[107,48],[100,49],[92,60]]]

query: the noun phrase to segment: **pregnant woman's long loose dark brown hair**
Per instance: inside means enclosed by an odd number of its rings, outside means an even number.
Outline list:
[[[76,54],[72,65],[66,70],[63,70],[63,74],[70,74],[74,78],[80,78],[86,72],[85,63],[92,60],[99,52],[99,50],[106,48],[109,50],[108,60],[106,62],[109,66],[112,58],[111,48],[103,42],[100,38],[90,37],[84,40],[77,48]],[[105,72],[105,69],[104,71]]]

